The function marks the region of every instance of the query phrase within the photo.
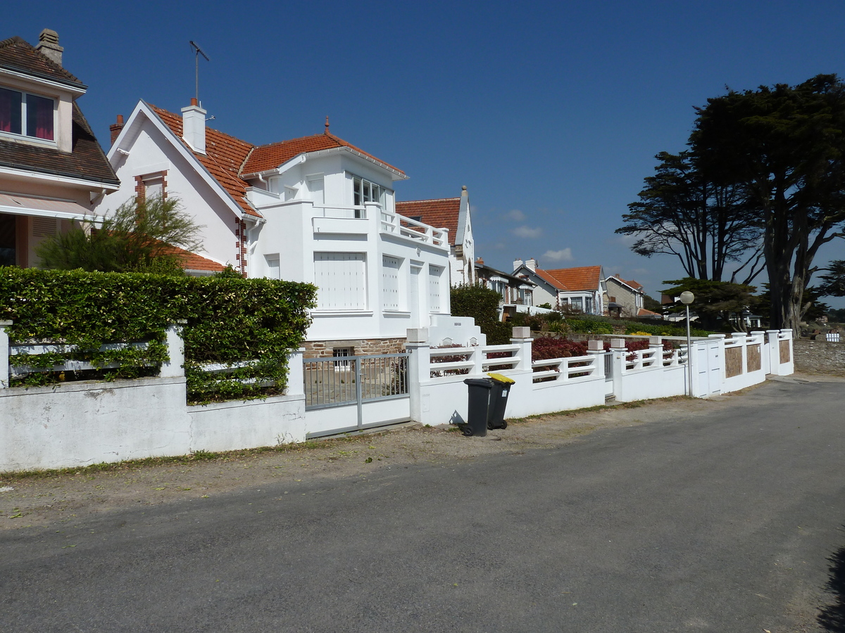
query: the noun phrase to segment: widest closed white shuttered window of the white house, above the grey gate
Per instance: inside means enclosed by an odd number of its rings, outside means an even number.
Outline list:
[[[314,284],[318,310],[366,310],[366,254],[315,252]]]

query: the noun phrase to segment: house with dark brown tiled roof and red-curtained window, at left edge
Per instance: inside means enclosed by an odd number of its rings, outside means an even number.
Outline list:
[[[0,41],[0,266],[37,266],[35,247],[95,214],[120,182],[76,100],[56,31]]]

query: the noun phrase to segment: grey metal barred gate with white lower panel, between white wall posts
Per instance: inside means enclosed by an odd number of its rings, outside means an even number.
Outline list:
[[[408,354],[303,359],[307,437],[411,419]]]

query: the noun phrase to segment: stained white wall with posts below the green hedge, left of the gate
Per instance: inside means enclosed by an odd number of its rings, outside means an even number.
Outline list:
[[[8,387],[7,325],[0,324],[0,472],[273,446],[308,432],[302,350],[289,354],[284,395],[189,406],[176,327],[157,377]]]

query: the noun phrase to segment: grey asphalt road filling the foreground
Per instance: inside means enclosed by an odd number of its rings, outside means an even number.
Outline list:
[[[718,419],[8,530],[0,630],[843,631],[843,406],[768,382]]]

